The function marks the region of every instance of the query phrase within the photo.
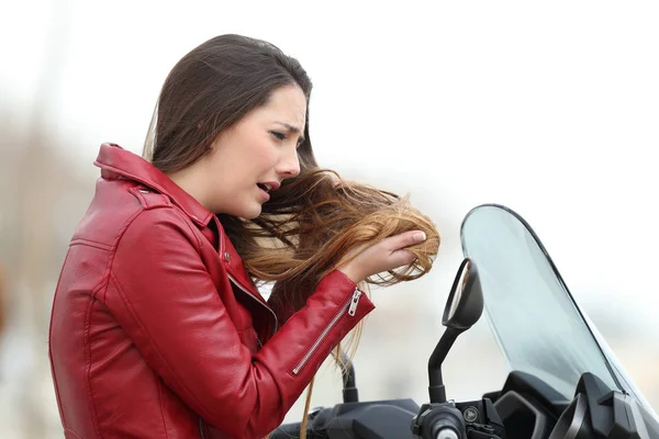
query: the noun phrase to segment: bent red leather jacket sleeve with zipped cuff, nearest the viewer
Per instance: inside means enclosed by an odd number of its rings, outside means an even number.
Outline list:
[[[118,244],[107,306],[148,365],[206,423],[232,437],[263,438],[375,306],[334,271],[252,356],[196,239],[172,207],[138,214]]]

